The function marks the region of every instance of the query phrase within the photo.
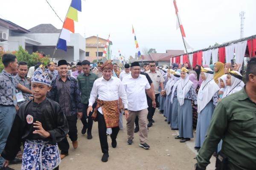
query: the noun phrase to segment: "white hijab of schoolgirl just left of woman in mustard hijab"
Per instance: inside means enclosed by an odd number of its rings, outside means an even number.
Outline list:
[[[205,70],[212,71],[210,68],[204,68]],[[213,95],[220,89],[213,79],[213,74],[204,73],[205,80],[202,82],[198,91],[198,113],[200,113],[205,106],[211,101]]]

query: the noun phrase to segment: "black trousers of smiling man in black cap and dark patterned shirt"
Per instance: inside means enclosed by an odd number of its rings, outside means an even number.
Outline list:
[[[77,140],[77,127],[76,127],[76,122],[77,122],[77,115],[72,115],[72,116],[67,116],[67,123],[68,123],[68,127],[69,127],[69,138],[70,140],[76,141]],[[58,142],[58,147],[61,150],[61,154],[63,155],[67,155],[68,154],[68,150],[69,150],[69,143],[67,141],[67,136],[65,136],[65,138],[61,141]]]

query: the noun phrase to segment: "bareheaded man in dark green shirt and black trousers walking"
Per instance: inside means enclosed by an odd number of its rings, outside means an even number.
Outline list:
[[[83,116],[81,118],[81,122],[84,126],[81,130],[81,133],[85,134],[87,130],[87,139],[92,139],[93,119],[90,116],[87,117],[87,108],[90,92],[93,88],[93,83],[99,77],[96,74],[90,72],[90,61],[84,60],[81,65],[83,73],[77,77],[78,85],[81,91],[81,102],[83,104]],[[88,123],[86,121],[87,118]]]

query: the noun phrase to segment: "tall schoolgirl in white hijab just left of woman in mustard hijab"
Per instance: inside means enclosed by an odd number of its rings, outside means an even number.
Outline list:
[[[212,113],[218,104],[218,90],[210,68],[201,68],[203,82],[198,91],[198,120],[196,125],[195,149],[199,150],[204,143],[205,135],[212,120]]]

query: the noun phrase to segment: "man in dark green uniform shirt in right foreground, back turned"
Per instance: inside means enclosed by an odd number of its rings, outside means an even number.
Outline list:
[[[218,103],[206,139],[199,150],[196,170],[205,170],[220,140],[227,156],[225,170],[256,167],[256,58],[247,65],[246,85]]]

